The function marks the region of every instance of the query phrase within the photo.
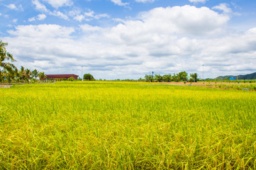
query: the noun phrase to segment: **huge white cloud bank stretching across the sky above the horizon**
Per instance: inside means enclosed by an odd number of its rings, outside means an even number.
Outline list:
[[[202,64],[205,77],[250,73],[256,64],[256,28],[223,35],[228,20],[210,8],[174,6],[154,8],[110,28],[17,26],[4,40],[22,65],[47,74],[79,74],[83,65],[97,79],[183,70],[201,77]]]

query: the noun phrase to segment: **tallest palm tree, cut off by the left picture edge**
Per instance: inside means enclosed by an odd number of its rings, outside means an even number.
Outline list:
[[[9,52],[6,52],[6,45],[8,45],[8,43],[2,42],[0,40],[0,71],[2,67],[3,69],[6,69],[8,72],[11,72],[16,67],[14,66],[14,64],[4,61],[11,60],[11,62],[15,62],[16,60],[14,60],[14,57]]]

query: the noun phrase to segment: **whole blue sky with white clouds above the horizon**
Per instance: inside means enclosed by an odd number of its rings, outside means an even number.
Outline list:
[[[256,72],[255,0],[0,0],[0,40],[46,74]]]

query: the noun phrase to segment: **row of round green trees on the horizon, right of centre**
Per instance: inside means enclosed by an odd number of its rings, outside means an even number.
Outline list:
[[[188,73],[187,72],[179,72],[178,74],[165,74],[161,76],[160,74],[155,74],[154,76],[151,74],[146,74],[145,75],[145,81],[147,82],[180,82],[180,81],[189,81],[189,82],[197,82],[199,81],[198,79],[198,74],[193,73],[190,74],[190,78],[188,79]]]

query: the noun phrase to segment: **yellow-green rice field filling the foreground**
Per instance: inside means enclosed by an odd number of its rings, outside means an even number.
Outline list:
[[[0,169],[256,169],[255,91],[86,81],[0,101]]]

